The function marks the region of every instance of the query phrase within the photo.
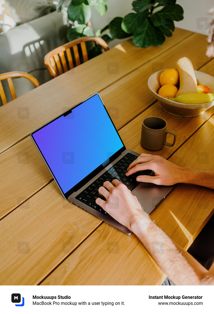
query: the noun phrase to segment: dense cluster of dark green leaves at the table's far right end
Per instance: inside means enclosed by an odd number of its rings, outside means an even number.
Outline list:
[[[132,7],[135,13],[127,14],[122,19],[120,27],[126,34],[133,36],[133,43],[137,47],[162,45],[165,36],[172,36],[174,21],[184,18],[183,8],[176,4],[176,0],[136,0],[132,2]],[[111,34],[113,21],[109,24],[108,35],[110,38],[121,38],[115,35],[116,31]]]

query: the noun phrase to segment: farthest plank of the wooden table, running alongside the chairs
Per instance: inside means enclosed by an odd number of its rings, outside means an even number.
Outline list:
[[[197,36],[203,46],[205,36],[181,29],[176,29],[172,37],[155,49],[137,48],[131,41],[125,41],[90,62],[85,62],[9,102],[1,108],[0,152],[80,101],[100,92],[127,73],[192,36]],[[201,49],[200,46],[198,49]]]

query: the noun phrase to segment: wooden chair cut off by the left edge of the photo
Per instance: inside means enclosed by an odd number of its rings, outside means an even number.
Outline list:
[[[33,77],[32,75],[26,73],[26,72],[13,71],[13,72],[7,72],[7,73],[0,74],[0,96],[2,99],[3,105],[7,104],[7,99],[6,99],[5,92],[4,92],[1,81],[4,79],[7,79],[12,99],[16,99],[17,98],[16,92],[15,92],[15,89],[13,86],[13,81],[12,81],[12,78],[16,78],[16,77],[27,78],[31,83],[34,84],[35,87],[40,86],[37,79],[35,77]]]

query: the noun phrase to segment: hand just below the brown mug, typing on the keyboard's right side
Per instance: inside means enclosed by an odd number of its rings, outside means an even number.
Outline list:
[[[140,182],[151,182],[158,185],[173,185],[183,182],[185,168],[173,164],[161,156],[141,154],[128,167],[126,176],[140,170],[151,169],[155,176],[137,176]]]

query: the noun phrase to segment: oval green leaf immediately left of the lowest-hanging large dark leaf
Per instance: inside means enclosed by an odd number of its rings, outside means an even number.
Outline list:
[[[126,33],[133,33],[139,27],[142,27],[143,22],[147,18],[149,11],[143,11],[142,13],[130,13],[126,15],[121,23],[121,28]]]

